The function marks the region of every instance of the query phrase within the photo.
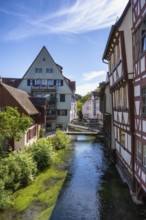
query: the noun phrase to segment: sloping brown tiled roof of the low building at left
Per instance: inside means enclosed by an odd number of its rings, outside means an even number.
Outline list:
[[[10,95],[20,104],[20,106],[27,112],[29,115],[35,115],[38,114],[38,111],[34,107],[34,105],[31,103],[29,99],[29,95],[20,90],[16,89],[12,86],[6,85],[4,83],[1,83],[1,85],[10,93]]]

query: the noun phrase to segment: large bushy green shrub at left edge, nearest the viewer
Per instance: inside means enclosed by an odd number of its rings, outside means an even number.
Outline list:
[[[5,189],[15,191],[26,186],[37,172],[36,163],[26,152],[12,152],[8,157],[1,159],[0,176],[4,181]]]

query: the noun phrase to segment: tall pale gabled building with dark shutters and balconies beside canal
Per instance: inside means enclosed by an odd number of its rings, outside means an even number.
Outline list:
[[[18,86],[34,97],[47,98],[47,130],[65,129],[74,117],[75,82],[64,77],[62,69],[43,47]]]

